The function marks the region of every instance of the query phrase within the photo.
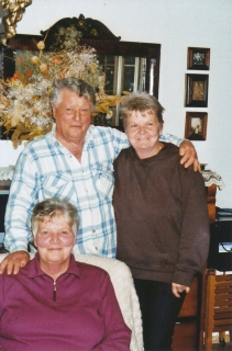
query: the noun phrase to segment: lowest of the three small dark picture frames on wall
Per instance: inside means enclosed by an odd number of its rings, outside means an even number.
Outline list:
[[[205,141],[207,139],[207,112],[186,112],[185,138]]]

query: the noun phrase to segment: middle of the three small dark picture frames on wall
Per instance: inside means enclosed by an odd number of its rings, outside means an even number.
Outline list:
[[[187,107],[208,106],[209,75],[186,75],[186,101]]]

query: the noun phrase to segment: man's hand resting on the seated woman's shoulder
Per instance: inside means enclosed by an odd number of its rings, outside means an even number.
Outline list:
[[[23,268],[30,260],[29,252],[15,251],[8,254],[4,260],[0,263],[0,274],[7,269],[7,273],[18,274],[20,269]]]

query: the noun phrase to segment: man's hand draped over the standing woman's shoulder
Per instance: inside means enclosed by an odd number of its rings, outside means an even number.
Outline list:
[[[184,140],[179,145],[179,155],[183,156],[180,163],[185,165],[185,168],[188,168],[189,166],[194,165],[194,170],[196,172],[201,171],[200,163],[198,161],[198,156],[191,141]]]

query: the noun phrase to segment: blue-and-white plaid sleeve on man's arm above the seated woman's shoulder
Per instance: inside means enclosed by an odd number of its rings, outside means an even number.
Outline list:
[[[4,217],[4,247],[10,252],[27,251],[27,244],[32,240],[30,220],[37,202],[36,179],[29,155],[23,151],[14,170]]]

